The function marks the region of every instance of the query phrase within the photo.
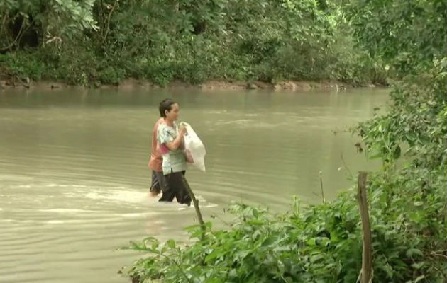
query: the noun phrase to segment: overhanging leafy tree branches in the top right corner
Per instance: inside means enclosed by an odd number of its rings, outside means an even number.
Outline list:
[[[446,56],[446,1],[353,0],[346,11],[360,46],[403,74]]]

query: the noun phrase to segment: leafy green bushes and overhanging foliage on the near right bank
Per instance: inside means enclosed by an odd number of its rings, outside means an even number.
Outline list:
[[[368,177],[373,282],[446,282],[446,3],[339,4],[347,38],[358,40],[353,50],[365,50],[353,53],[355,64],[347,66],[358,68],[369,58],[374,63],[366,69],[387,69],[398,81],[388,112],[353,129],[368,158],[382,160]],[[155,238],[132,243],[147,256],[128,274],[135,282],[355,282],[362,248],[355,192],[301,210],[297,200],[282,215],[234,204],[228,229],[209,223],[201,239],[199,227],[190,227],[190,246]]]

